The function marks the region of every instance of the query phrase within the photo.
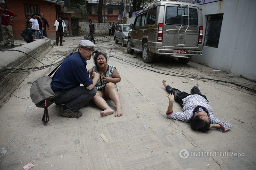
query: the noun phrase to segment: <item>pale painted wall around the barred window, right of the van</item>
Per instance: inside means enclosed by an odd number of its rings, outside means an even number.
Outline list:
[[[191,60],[256,80],[255,7],[255,0],[224,0],[202,5],[204,29],[207,15],[223,13],[219,46],[204,46],[203,55]]]

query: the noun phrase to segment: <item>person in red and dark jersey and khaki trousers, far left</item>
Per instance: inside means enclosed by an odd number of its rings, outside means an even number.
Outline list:
[[[12,22],[10,19],[17,17],[17,15],[12,11],[6,9],[6,4],[1,3],[0,5],[1,5],[0,17],[2,18],[1,27],[2,27],[4,38],[6,41],[4,45],[10,44],[10,41],[11,41],[11,45],[13,46],[14,37],[13,37],[13,31],[12,31]]]

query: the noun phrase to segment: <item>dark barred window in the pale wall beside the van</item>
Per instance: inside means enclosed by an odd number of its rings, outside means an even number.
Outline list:
[[[204,45],[218,48],[223,14],[208,15]]]

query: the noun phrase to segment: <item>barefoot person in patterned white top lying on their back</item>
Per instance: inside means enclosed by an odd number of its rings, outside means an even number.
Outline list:
[[[231,129],[231,125],[226,121],[220,121],[213,115],[212,107],[208,105],[206,96],[201,94],[198,83],[191,89],[191,94],[181,92],[172,88],[163,80],[163,85],[168,93],[169,107],[166,115],[170,119],[183,122],[190,122],[193,130],[206,132],[210,128],[217,128],[221,132]],[[176,100],[183,107],[181,112],[173,112],[173,101]]]

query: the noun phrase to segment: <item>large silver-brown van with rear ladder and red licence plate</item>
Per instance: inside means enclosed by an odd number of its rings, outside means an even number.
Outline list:
[[[156,55],[178,58],[181,63],[188,63],[193,55],[201,56],[202,8],[195,1],[184,1],[155,0],[145,5],[131,24],[127,52],[142,52],[145,63]]]

